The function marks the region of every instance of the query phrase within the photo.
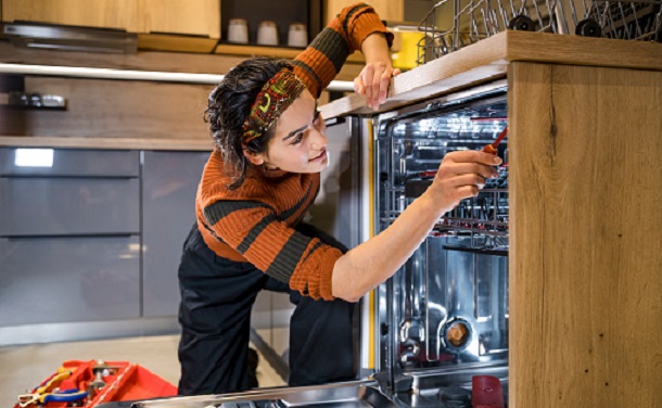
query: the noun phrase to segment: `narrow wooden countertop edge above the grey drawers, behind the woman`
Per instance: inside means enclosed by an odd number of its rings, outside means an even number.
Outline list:
[[[0,146],[12,148],[61,148],[106,150],[169,150],[207,151],[214,149],[209,140],[186,139],[125,139],[125,138],[59,138],[31,136],[0,136]]]

